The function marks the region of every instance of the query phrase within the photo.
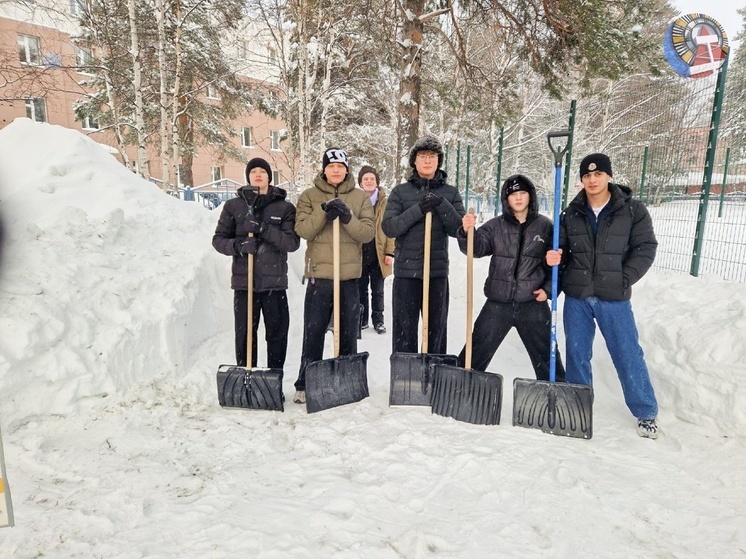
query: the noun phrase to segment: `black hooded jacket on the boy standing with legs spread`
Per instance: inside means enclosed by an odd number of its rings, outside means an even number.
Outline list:
[[[519,223],[508,206],[507,181],[501,199],[503,213],[474,232],[474,257],[492,255],[484,294],[497,303],[525,303],[534,291],[552,295],[552,269],[545,264],[552,248],[552,220],[539,214],[536,190],[530,192],[528,215]],[[459,229],[458,244],[466,254],[466,234]]]

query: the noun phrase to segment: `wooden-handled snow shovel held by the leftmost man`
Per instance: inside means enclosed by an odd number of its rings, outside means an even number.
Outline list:
[[[249,233],[249,238],[253,237]],[[254,255],[248,255],[248,293],[246,325],[246,367],[218,367],[218,401],[225,408],[285,411],[282,394],[282,369],[255,369],[254,361]]]

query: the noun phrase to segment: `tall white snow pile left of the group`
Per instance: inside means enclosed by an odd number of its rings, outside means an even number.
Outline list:
[[[189,368],[218,327],[216,214],[161,192],[93,140],[18,119],[0,131],[4,421]],[[215,292],[215,288],[219,291]]]

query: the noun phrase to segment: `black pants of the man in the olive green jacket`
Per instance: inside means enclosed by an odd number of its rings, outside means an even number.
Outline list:
[[[339,354],[357,353],[360,328],[360,302],[357,279],[339,282]],[[324,357],[324,336],[329,318],[334,312],[334,281],[310,279],[303,306],[303,350],[296,390],[306,389],[306,367]]]

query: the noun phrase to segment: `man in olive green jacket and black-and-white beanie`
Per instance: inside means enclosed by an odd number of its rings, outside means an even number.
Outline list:
[[[324,353],[324,335],[334,312],[334,251],[332,223],[340,227],[340,355],[357,353],[360,327],[358,279],[362,245],[373,239],[376,220],[368,195],[355,188],[347,153],[336,147],[324,151],[322,171],[298,199],[295,231],[306,240],[308,282],[303,308],[303,349],[293,401],[306,401],[306,368]]]

